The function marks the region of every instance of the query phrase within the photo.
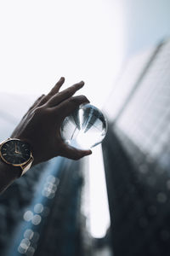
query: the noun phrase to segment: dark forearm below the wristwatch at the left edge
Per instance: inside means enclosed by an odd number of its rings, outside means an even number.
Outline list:
[[[0,193],[7,189],[17,177],[20,177],[20,167],[7,165],[0,160]]]

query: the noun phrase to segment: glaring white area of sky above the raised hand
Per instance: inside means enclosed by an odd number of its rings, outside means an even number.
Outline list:
[[[0,3],[0,92],[40,95],[61,77],[101,108],[122,63],[118,0]]]

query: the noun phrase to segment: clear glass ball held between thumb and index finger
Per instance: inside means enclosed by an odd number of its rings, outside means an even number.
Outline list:
[[[103,141],[107,122],[101,111],[91,104],[83,104],[61,125],[61,137],[74,148],[93,148]]]

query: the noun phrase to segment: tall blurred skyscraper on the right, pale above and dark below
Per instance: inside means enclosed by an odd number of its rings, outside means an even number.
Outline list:
[[[103,145],[115,255],[170,253],[170,41],[137,55],[105,111]]]

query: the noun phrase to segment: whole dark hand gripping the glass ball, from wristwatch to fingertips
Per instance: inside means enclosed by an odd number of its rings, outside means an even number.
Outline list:
[[[50,160],[55,156],[65,156],[79,160],[92,154],[91,150],[79,150],[64,143],[60,136],[60,126],[82,103],[89,103],[85,96],[73,96],[84,82],[74,84],[59,92],[65,79],[59,79],[48,95],[40,96],[21,119],[11,137],[19,138],[31,145],[33,165]]]

